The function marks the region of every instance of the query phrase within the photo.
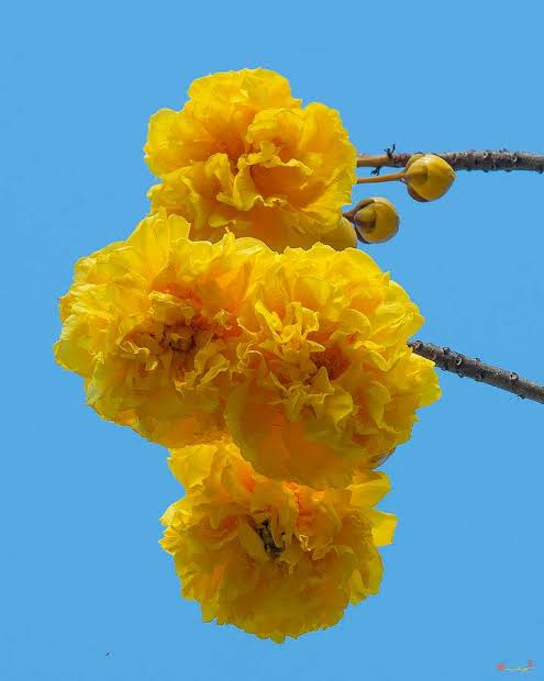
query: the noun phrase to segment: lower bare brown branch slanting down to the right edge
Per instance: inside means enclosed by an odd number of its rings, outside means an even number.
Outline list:
[[[544,404],[544,386],[521,378],[513,371],[506,371],[498,367],[487,365],[481,359],[467,357],[460,353],[454,353],[448,347],[440,347],[432,343],[412,340],[408,344],[417,355],[426,357],[444,371],[452,371],[457,376],[471,378],[488,386],[513,392],[518,397],[534,400]]]

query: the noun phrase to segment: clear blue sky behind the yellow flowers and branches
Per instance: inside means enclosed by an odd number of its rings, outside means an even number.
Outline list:
[[[201,75],[265,66],[337,108],[366,152],[544,152],[539,2],[19,2],[2,10],[2,681],[544,678],[543,408],[442,375],[386,469],[399,516],[382,591],[277,646],[178,596],[164,451],[85,406],[56,367],[57,297],[129,234],[148,116]],[[371,254],[421,337],[544,381],[544,177],[460,174]],[[363,196],[360,190],[357,197]],[[107,654],[110,652],[109,656]]]

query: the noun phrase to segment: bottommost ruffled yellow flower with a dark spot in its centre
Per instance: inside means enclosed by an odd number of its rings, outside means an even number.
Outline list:
[[[174,450],[170,467],[187,495],[163,516],[160,544],[204,621],[281,643],[378,592],[376,547],[396,524],[373,509],[389,489],[384,473],[319,492],[256,475],[227,439]]]

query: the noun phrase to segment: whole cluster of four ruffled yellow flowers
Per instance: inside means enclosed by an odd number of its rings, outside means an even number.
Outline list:
[[[407,343],[417,305],[353,248],[337,113],[263,69],[189,94],[149,124],[149,215],[77,263],[55,357],[100,416],[170,448],[184,595],[280,641],[377,593],[395,518],[374,469],[440,390]]]

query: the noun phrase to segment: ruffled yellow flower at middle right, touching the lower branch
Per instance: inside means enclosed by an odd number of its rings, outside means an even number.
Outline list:
[[[407,339],[423,317],[367,254],[287,249],[238,313],[226,424],[265,476],[345,487],[409,439],[440,395],[433,362]]]

